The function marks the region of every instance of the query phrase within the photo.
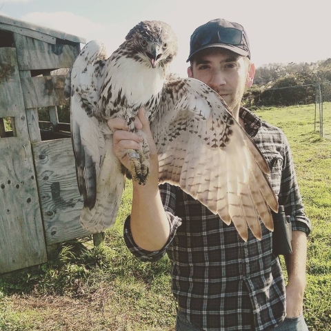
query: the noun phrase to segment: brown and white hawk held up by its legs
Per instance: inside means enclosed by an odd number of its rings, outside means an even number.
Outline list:
[[[142,21],[110,57],[90,41],[66,78],[81,224],[101,232],[114,224],[126,173],[112,152],[108,119],[126,120],[146,110],[157,146],[159,183],[168,182],[198,199],[248,239],[261,239],[261,224],[273,230],[270,208],[278,201],[266,178],[268,164],[225,101],[197,79],[169,78],[177,37],[161,21]],[[143,135],[142,132],[137,132]],[[148,181],[149,149],[128,150],[132,180]],[[270,208],[269,208],[270,207]]]

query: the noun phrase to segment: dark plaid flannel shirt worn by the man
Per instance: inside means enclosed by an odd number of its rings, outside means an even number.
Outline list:
[[[239,116],[270,166],[270,183],[290,215],[293,230],[310,232],[288,141],[283,132],[245,108]],[[160,185],[170,237],[163,249],[139,248],[124,227],[129,250],[141,261],[171,261],[172,292],[182,314],[208,331],[270,330],[285,318],[285,282],[279,259],[272,254],[272,232],[261,223],[262,240],[249,230],[244,242],[199,201],[180,188]]]

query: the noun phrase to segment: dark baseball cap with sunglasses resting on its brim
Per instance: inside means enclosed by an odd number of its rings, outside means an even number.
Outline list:
[[[232,50],[250,59],[250,42],[243,26],[225,19],[213,19],[195,29],[190,40],[190,56],[205,48],[219,47]]]

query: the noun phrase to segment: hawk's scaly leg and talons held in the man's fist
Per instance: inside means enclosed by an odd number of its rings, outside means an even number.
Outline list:
[[[143,132],[141,130],[136,130],[133,121],[128,121],[128,126],[130,132],[136,132],[141,137],[143,137],[143,141],[141,143],[141,150],[128,150],[128,158],[130,161],[129,171],[134,181],[137,181],[137,183],[139,184],[145,185],[148,179],[148,175],[150,173],[150,149],[148,146],[148,142],[144,137]]]

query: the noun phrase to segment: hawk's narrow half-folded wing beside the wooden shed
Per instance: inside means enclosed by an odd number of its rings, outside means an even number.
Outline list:
[[[71,97],[72,147],[79,192],[83,195],[84,205],[90,208],[95,203],[96,181],[104,154],[105,141],[99,134],[99,121],[92,115],[99,100],[105,60],[103,45],[91,41],[81,50],[66,78],[65,97]]]

